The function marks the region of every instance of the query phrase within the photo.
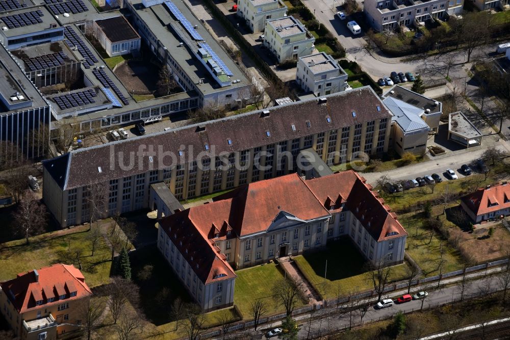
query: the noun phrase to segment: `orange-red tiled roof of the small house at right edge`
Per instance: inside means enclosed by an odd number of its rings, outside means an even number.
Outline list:
[[[495,185],[489,189],[479,188],[475,192],[462,197],[461,200],[475,215],[510,208],[510,185]]]

